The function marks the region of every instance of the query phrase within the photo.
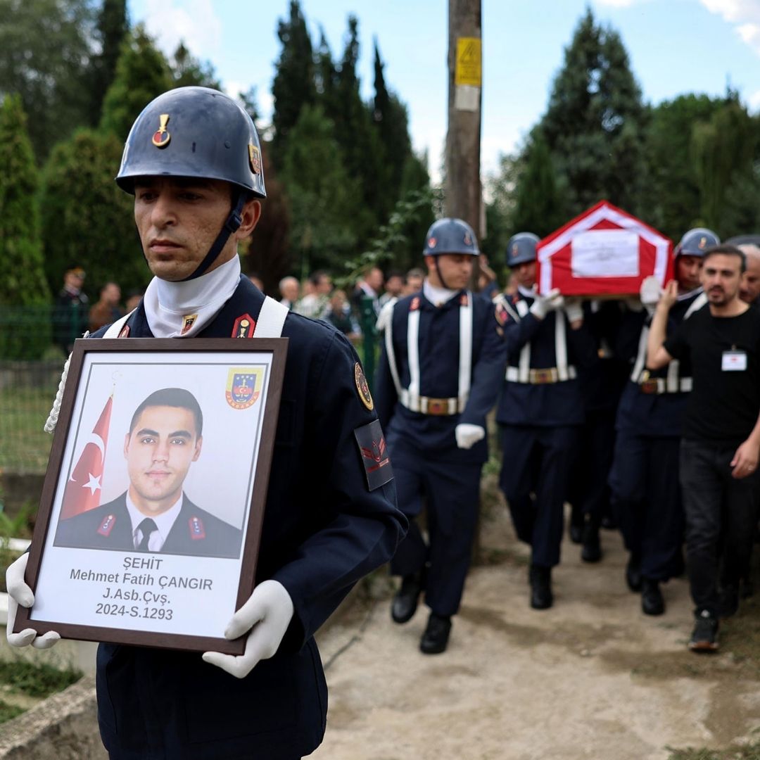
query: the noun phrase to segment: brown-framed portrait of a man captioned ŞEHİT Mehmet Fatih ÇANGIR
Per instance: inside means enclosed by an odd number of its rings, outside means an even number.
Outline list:
[[[14,629],[242,654],[287,339],[77,340]]]

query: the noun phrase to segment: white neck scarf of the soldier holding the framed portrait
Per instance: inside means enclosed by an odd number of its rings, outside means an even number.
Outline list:
[[[154,277],[143,304],[155,337],[193,337],[221,311],[240,281],[240,259],[233,256],[208,274],[182,283]]]

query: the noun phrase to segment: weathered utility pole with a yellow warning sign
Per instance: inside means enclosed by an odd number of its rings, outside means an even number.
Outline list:
[[[480,188],[482,87],[480,0],[448,0],[446,216],[464,219],[482,238]]]

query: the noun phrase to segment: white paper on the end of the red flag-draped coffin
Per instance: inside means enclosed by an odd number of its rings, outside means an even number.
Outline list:
[[[638,234],[589,230],[571,242],[573,277],[638,277]]]

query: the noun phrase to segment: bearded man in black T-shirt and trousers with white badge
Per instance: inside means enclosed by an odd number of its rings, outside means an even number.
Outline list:
[[[696,623],[689,648],[717,649],[718,616],[736,610],[757,522],[760,458],[760,313],[739,298],[744,254],[733,245],[705,252],[701,281],[707,308],[667,340],[676,283],[654,313],[647,366],[690,359],[694,386],[686,405],[680,479],[686,509],[686,553]],[[718,562],[722,554],[721,588]]]

